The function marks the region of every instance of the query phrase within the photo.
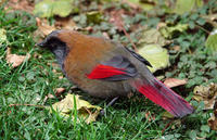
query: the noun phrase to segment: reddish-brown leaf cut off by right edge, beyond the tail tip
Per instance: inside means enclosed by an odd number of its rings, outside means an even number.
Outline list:
[[[217,100],[215,101],[214,105],[214,115],[208,118],[208,126],[210,127],[210,129],[217,130]]]

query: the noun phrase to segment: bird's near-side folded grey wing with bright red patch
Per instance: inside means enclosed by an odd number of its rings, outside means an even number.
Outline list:
[[[87,74],[87,77],[89,79],[119,81],[132,78],[137,74],[137,68],[127,58],[117,55],[97,65],[90,74]]]

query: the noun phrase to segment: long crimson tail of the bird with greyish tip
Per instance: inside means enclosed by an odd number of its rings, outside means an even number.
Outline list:
[[[193,112],[193,107],[186,100],[157,79],[154,80],[153,85],[136,81],[133,87],[176,117],[182,117]]]

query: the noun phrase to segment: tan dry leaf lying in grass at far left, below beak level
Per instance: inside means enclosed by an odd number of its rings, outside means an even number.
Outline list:
[[[20,66],[25,60],[28,60],[29,58],[29,53],[27,53],[27,55],[17,55],[11,54],[11,48],[8,48],[7,50],[7,63],[12,64],[12,67]]]

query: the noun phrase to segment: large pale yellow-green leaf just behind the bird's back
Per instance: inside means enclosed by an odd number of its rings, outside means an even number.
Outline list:
[[[168,52],[159,44],[144,44],[138,53],[151,63],[152,67],[149,69],[152,73],[169,65]]]

